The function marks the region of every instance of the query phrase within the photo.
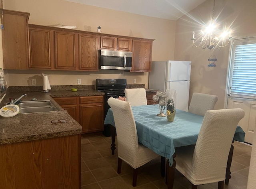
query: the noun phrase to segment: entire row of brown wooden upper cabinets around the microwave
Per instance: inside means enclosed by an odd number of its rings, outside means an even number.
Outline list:
[[[110,49],[132,52],[131,72],[151,71],[154,39],[28,24],[28,17],[3,10],[4,69],[98,71],[99,50]]]

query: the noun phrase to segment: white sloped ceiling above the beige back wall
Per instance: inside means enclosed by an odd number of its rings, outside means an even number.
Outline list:
[[[178,20],[206,0],[65,0],[90,6]]]

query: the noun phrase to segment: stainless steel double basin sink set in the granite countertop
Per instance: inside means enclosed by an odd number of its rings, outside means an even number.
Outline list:
[[[51,100],[22,101],[17,105],[20,106],[20,114],[59,111]]]

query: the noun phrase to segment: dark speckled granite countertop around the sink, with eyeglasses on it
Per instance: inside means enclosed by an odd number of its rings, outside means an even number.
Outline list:
[[[6,102],[9,102],[10,97],[19,98],[21,95],[27,94],[27,96],[21,100],[26,101],[32,98],[36,98],[37,100],[51,100],[59,111],[17,114],[12,118],[0,116],[0,144],[80,134],[82,133],[82,126],[62,109],[52,97],[104,95],[104,93],[94,89],[78,90],[77,92],[50,91],[49,93],[24,90],[17,91],[19,92],[7,90],[6,96],[0,103],[0,108],[2,108]],[[66,123],[51,123],[52,120],[61,119],[66,120]]]

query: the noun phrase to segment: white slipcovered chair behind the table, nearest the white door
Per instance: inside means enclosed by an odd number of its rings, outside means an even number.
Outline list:
[[[204,116],[207,110],[213,110],[218,100],[216,95],[193,93],[188,112]]]

